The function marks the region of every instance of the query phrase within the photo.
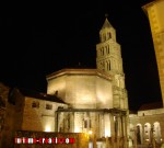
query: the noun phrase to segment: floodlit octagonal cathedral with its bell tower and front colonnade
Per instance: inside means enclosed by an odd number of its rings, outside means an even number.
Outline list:
[[[97,69],[62,69],[47,76],[47,93],[57,93],[68,109],[56,112],[57,132],[127,138],[128,98],[120,45],[106,19],[96,45]]]

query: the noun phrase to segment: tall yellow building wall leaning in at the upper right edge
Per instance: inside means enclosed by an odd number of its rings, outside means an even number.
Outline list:
[[[164,104],[164,0],[155,0],[143,9],[150,21]]]

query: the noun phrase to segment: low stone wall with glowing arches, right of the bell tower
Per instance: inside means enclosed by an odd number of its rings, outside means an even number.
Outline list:
[[[160,144],[164,140],[164,110],[147,110],[139,111],[138,114],[131,114],[130,121],[130,136],[134,140],[137,135],[137,126],[140,128],[140,137],[142,144],[151,143],[154,137]],[[157,125],[157,126],[156,126]],[[153,134],[152,134],[153,130]]]

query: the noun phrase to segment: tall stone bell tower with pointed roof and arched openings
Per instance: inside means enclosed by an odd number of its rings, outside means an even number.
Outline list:
[[[113,78],[114,107],[128,109],[121,49],[116,41],[116,31],[107,18],[99,31],[99,43],[96,45],[96,67]]]

